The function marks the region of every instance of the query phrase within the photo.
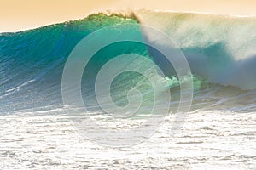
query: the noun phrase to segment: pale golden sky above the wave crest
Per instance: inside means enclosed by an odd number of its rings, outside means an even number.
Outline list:
[[[0,0],[0,32],[20,31],[98,11],[139,8],[255,15],[255,0]]]

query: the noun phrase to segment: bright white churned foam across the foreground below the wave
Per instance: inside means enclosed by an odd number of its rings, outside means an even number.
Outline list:
[[[168,116],[150,139],[121,149],[91,143],[66,116],[0,116],[0,168],[255,169],[255,114],[194,111],[175,136]]]

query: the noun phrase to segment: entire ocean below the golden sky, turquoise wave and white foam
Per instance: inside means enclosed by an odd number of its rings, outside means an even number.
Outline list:
[[[143,25],[161,31],[175,45],[170,48],[160,35]],[[104,29],[108,34],[102,36]],[[255,169],[255,29],[254,17],[139,10],[127,16],[93,14],[83,20],[1,33],[0,168]],[[136,37],[140,42],[108,44],[91,59],[84,54],[88,65],[80,75],[80,89],[73,83],[63,88],[63,71],[79,42],[94,37],[96,43],[90,39],[84,43],[94,49],[114,36]],[[147,43],[166,51],[181,51],[191,70],[188,77],[178,77],[175,65]],[[119,65],[111,65],[103,74],[104,65],[123,55],[126,57],[117,60]],[[77,80],[75,73],[83,59],[72,65],[67,76],[70,80]],[[125,70],[128,66],[136,71]],[[99,82],[100,73],[104,77]],[[112,74],[117,77],[108,84]],[[109,85],[112,101],[102,91],[97,95],[97,81],[100,88]],[[177,121],[181,95],[189,93],[189,88],[183,91],[183,85],[190,81],[192,105],[185,103],[189,108],[186,118]],[[88,122],[80,127],[82,121],[76,123],[77,119],[73,122],[67,110],[80,116],[84,108],[77,105],[76,98],[63,99],[66,91],[75,97],[80,93],[86,111],[102,127],[121,133],[131,130],[131,136],[109,135],[107,140],[122,146],[129,137],[142,139],[141,143],[114,148],[97,143],[106,136],[87,138],[81,129],[90,132],[96,127]],[[166,94],[171,94],[170,100]],[[63,100],[73,103],[63,105]],[[117,109],[112,110],[111,102]],[[130,103],[135,104],[127,110],[125,106]],[[138,110],[133,108],[136,104]],[[145,128],[141,136],[133,136],[132,129],[147,122],[154,108],[164,120],[154,124],[154,133]],[[172,133],[175,120],[182,126]]]

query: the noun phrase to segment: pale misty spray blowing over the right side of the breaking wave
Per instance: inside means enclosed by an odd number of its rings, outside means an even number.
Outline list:
[[[165,32],[189,61],[195,75],[209,82],[256,88],[256,18],[138,10],[141,24]],[[143,31],[147,41],[162,43]],[[164,46],[164,44],[162,44]]]

